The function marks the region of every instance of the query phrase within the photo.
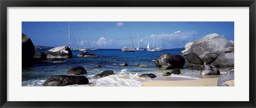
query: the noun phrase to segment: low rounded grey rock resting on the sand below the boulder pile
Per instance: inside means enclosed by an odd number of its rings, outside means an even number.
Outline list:
[[[206,64],[206,65],[202,65],[200,74],[201,75],[220,75],[220,71],[215,66]]]

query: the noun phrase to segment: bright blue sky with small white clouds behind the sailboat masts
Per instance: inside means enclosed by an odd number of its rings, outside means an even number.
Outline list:
[[[78,47],[85,47],[85,35],[91,47],[123,48],[130,46],[130,33],[134,46],[139,41],[143,47],[149,42],[152,47],[153,37],[160,46],[161,35],[166,49],[182,48],[187,42],[207,34],[217,33],[227,40],[234,40],[234,22],[22,22],[22,32],[37,46],[68,46],[68,23]],[[70,31],[71,32],[71,31]]]

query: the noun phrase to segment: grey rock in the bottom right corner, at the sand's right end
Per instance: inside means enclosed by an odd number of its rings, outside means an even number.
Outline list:
[[[225,83],[228,80],[234,80],[234,71],[235,69],[229,70],[225,76],[218,78],[217,86],[221,86],[222,83]]]

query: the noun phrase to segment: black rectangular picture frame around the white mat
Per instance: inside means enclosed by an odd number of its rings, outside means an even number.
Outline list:
[[[0,107],[255,107],[255,0],[0,0],[1,73]],[[249,102],[10,102],[7,99],[7,7],[249,7],[250,100]],[[239,98],[239,97],[238,97]]]

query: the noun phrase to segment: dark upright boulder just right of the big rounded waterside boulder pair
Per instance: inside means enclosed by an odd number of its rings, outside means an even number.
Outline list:
[[[200,57],[198,57],[196,53],[191,52],[187,55],[188,69],[201,70],[201,65],[203,64],[204,64],[204,61]]]

